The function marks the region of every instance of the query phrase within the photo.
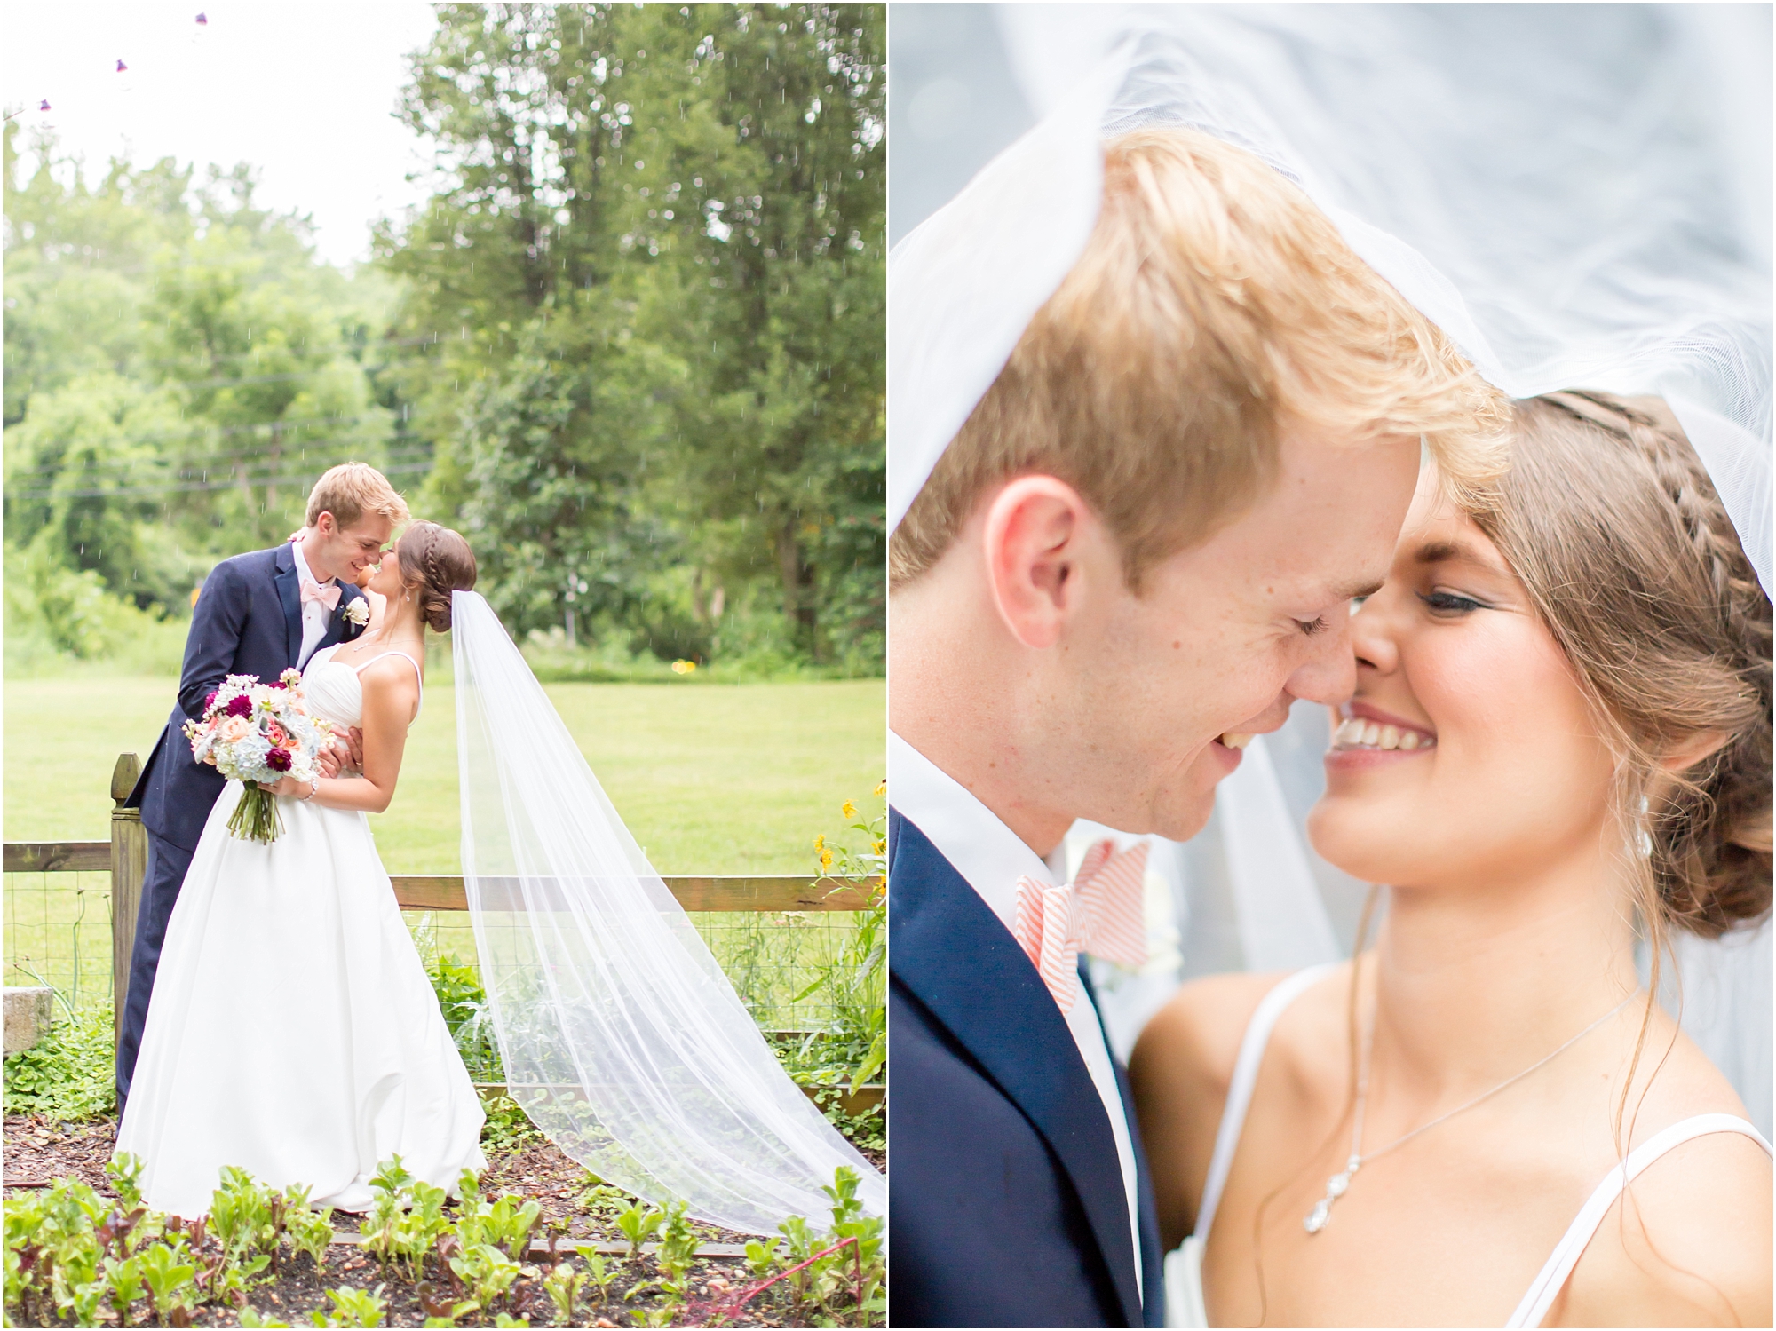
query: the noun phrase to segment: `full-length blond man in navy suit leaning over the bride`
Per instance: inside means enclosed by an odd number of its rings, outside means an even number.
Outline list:
[[[147,829],[147,875],[130,953],[130,994],[117,1040],[117,1114],[130,1095],[135,1056],[142,1047],[155,967],[167,937],[167,919],[210,809],[227,781],[192,758],[186,719],[201,719],[204,699],[229,674],[263,681],[302,666],[321,648],[362,632],[364,593],[357,575],[382,557],[407,504],[375,467],[348,461],[334,467],[309,492],[307,522],[295,539],[217,564],[192,609],[172,708],[130,807],[142,809]],[[352,607],[364,602],[364,609]]]

